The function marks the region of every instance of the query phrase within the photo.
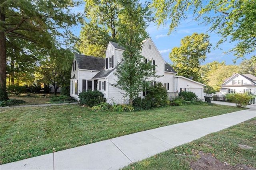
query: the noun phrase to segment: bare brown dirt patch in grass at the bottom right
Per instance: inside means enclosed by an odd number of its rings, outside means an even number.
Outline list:
[[[190,166],[193,170],[256,170],[246,165],[231,166],[228,163],[220,162],[212,154],[205,154],[199,152],[196,157],[199,157],[197,161],[191,162]]]

